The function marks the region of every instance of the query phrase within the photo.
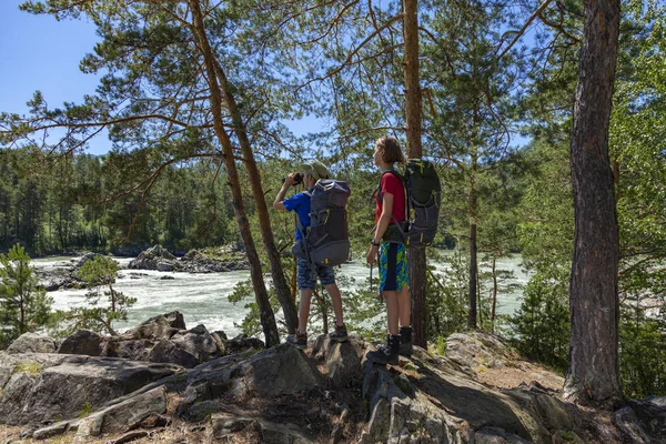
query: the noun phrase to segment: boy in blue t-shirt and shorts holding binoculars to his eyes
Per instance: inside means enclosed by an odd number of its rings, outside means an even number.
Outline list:
[[[306,190],[312,190],[314,184],[320,179],[329,179],[329,170],[320,161],[312,161],[299,167],[297,171],[302,171],[302,182]],[[273,208],[280,211],[295,211],[301,226],[296,224],[296,243],[305,242],[303,234],[307,232],[310,226],[310,194],[302,192],[294,194],[290,199],[284,199],[287,190],[292,185],[296,185],[296,174],[291,173],[285,180],[282,189],[275,196]],[[303,231],[303,232],[301,232]],[[313,270],[313,266],[315,270]],[[314,272],[313,272],[314,271]],[[316,276],[331,295],[333,302],[333,312],[335,313],[335,330],[329,334],[329,337],[336,342],[344,342],[347,339],[346,327],[342,317],[342,295],[335,283],[335,273],[332,266],[312,264],[307,258],[297,258],[296,280],[299,290],[301,291],[301,303],[299,304],[299,330],[295,335],[290,335],[286,342],[299,347],[307,346],[307,316],[310,315],[310,301],[312,292],[316,284]]]

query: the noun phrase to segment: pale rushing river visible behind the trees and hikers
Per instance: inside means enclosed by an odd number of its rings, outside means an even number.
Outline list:
[[[78,259],[78,258],[75,258]],[[210,331],[222,330],[230,337],[240,333],[240,324],[248,313],[244,303],[233,304],[228,296],[234,285],[250,279],[249,271],[225,273],[174,273],[150,270],[127,270],[131,258],[113,258],[123,270],[114,284],[114,290],[137,299],[130,310],[127,322],[114,323],[119,331],[127,330],[147,319],[174,310],[183,313],[189,327],[204,324]],[[50,256],[32,260],[36,269],[70,266],[70,256]],[[529,275],[521,269],[521,256],[497,261],[497,269],[514,272],[513,282],[525,284]],[[437,273],[446,275],[447,266],[435,266]],[[376,268],[374,269],[376,273]],[[343,292],[354,290],[365,284],[370,268],[360,263],[349,263],[336,269],[336,274],[350,278],[350,284],[341,287]],[[375,274],[376,275],[376,274]],[[69,310],[85,304],[85,290],[58,290],[49,292],[53,297],[53,309]],[[522,290],[501,294],[497,299],[500,314],[513,314],[521,305]]]

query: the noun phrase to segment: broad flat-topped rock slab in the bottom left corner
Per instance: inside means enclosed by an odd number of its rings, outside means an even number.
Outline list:
[[[109,357],[0,353],[0,418],[12,425],[73,418],[179,370]]]

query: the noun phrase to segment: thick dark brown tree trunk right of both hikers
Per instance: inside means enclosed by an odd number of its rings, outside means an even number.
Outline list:
[[[575,233],[564,396],[606,408],[623,403],[617,350],[619,245],[608,157],[618,29],[619,0],[585,1],[571,145]]]

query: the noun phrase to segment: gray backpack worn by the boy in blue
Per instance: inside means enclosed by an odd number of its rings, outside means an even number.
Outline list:
[[[350,186],[345,181],[322,179],[310,195],[310,228],[304,233],[306,256],[320,265],[334,266],[350,259],[346,203]],[[299,230],[303,231],[301,221]]]

